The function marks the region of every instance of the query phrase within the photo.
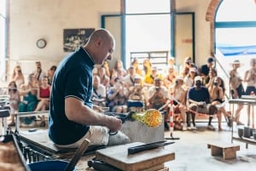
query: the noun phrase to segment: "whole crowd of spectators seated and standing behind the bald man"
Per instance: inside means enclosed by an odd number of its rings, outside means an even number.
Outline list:
[[[214,130],[212,117],[218,118],[218,130],[222,130],[222,115],[226,117],[228,125],[232,124],[229,111],[225,110],[225,85],[224,80],[218,77],[215,69],[215,59],[209,57],[207,64],[196,66],[190,57],[183,61],[179,68],[175,65],[175,59],[169,60],[166,68],[157,68],[150,60],[143,61],[140,69],[138,61],[133,60],[131,66],[125,70],[121,60],[117,60],[113,69],[108,62],[102,66],[96,66],[93,71],[93,94],[91,100],[94,109],[101,111],[103,107],[109,107],[109,111],[125,113],[129,111],[141,112],[147,109],[170,111],[173,100],[173,109],[179,113],[177,125],[180,129],[196,129],[195,116],[197,113],[209,115],[207,128]],[[247,92],[255,92],[256,60],[252,60],[252,68],[246,72],[246,76],[238,77],[237,69],[241,66],[239,60],[232,63],[230,71],[230,90],[233,98],[245,94],[241,82],[248,83]],[[50,84],[56,66],[51,66],[48,73],[42,70],[41,63],[36,62],[36,69],[28,76],[27,82],[20,66],[15,66],[12,80],[9,83],[11,113],[22,111],[49,110]],[[250,86],[251,85],[251,86]],[[200,95],[199,95],[200,94]],[[247,93],[248,94],[248,93]],[[237,124],[241,123],[240,111],[242,105],[238,105],[236,117]],[[34,117],[25,117],[21,122],[29,125]],[[165,117],[165,128],[169,128],[169,115]],[[15,125],[15,118],[11,117],[11,126]],[[41,126],[44,126],[42,117]]]

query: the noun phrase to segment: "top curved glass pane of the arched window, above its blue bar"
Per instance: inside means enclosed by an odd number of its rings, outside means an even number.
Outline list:
[[[216,21],[252,20],[256,20],[256,2],[254,0],[224,0],[216,15]]]

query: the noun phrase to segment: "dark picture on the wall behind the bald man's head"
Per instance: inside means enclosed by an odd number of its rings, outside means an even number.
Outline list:
[[[79,46],[84,46],[93,31],[95,31],[94,28],[64,29],[64,52],[73,52]]]

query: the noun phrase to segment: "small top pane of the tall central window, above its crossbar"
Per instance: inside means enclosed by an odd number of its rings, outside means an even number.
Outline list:
[[[126,0],[126,14],[170,13],[170,0]]]

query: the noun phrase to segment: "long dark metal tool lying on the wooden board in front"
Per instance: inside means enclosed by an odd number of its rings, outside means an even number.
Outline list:
[[[163,140],[163,141],[158,141],[158,142],[149,143],[149,144],[145,144],[145,145],[137,145],[137,146],[129,147],[128,154],[135,154],[137,152],[155,149],[160,146],[171,145],[173,143],[174,142],[166,142],[166,140]]]

